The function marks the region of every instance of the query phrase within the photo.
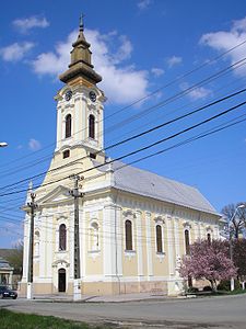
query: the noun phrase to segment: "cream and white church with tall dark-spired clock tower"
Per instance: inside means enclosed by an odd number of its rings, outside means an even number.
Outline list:
[[[181,257],[197,239],[219,238],[220,215],[195,188],[108,160],[104,103],[83,23],[59,76],[57,140],[24,220],[20,293],[178,295]],[[30,239],[32,235],[32,239]],[[32,262],[32,263],[31,263]],[[31,266],[32,265],[32,266]]]

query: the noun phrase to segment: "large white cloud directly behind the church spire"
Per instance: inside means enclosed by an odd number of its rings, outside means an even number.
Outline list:
[[[117,32],[102,35],[95,30],[85,30],[84,34],[92,45],[95,70],[103,77],[101,88],[110,102],[130,103],[147,95],[148,72],[137,70],[133,65],[122,64],[130,58],[132,52],[132,45],[126,36],[119,36]],[[66,70],[70,63],[71,45],[77,36],[78,32],[72,32],[66,42],[57,44],[55,52],[40,54],[33,61],[34,71],[55,76]],[[117,43],[119,46],[113,52],[110,44],[115,46]]]

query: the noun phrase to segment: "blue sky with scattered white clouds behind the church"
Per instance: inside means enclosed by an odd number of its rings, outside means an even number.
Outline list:
[[[9,146],[0,148],[0,248],[23,238],[20,208],[30,178],[49,167],[56,141],[54,97],[63,86],[58,76],[70,63],[81,13],[94,68],[103,77],[98,88],[107,97],[105,146],[246,88],[243,0],[236,5],[231,0],[10,0],[1,9],[0,141]],[[245,202],[245,99],[242,91],[112,148],[107,156],[120,157],[234,107],[124,161],[163,150],[134,166],[198,188],[218,212]],[[33,180],[34,186],[43,179]]]

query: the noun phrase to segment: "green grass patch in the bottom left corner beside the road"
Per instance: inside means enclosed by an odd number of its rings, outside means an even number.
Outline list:
[[[65,320],[51,316],[14,313],[0,308],[1,329],[106,329],[105,326],[90,326],[84,322]],[[109,327],[108,327],[109,328]]]

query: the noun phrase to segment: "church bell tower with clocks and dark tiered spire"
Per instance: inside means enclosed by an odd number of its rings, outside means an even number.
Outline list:
[[[87,156],[104,156],[103,103],[106,98],[96,83],[102,77],[92,65],[92,52],[84,37],[82,16],[77,41],[72,44],[71,63],[59,76],[65,82],[55,100],[57,101],[57,143],[55,156],[63,158],[74,149],[81,149]],[[67,154],[66,154],[67,152]]]

